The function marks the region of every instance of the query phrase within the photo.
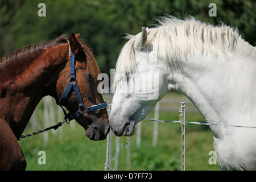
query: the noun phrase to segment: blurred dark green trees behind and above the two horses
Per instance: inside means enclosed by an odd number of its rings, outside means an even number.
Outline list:
[[[38,4],[46,4],[46,17],[39,17]],[[209,3],[216,3],[217,16],[208,15]],[[71,32],[93,50],[101,72],[110,74],[125,33],[138,34],[141,27],[154,27],[165,14],[177,18],[194,16],[217,25],[237,27],[242,38],[256,45],[254,0],[0,0],[0,56],[11,51]]]

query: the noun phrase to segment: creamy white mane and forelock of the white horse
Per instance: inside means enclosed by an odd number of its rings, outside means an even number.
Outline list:
[[[181,20],[174,16],[164,17],[158,22],[159,26],[147,30],[147,44],[154,44],[158,55],[166,56],[164,60],[167,61],[180,60],[188,53],[192,54],[195,49],[201,54],[207,53],[213,57],[225,56],[227,51],[236,51],[237,40],[240,38],[236,28],[230,28],[223,23],[214,27],[192,17]],[[126,36],[130,40],[123,46],[118,57],[115,80],[119,80],[120,75],[136,72],[136,38],[136,35]],[[116,78],[117,75],[119,78]]]

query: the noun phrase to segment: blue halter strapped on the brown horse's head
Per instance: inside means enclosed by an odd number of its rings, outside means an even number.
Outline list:
[[[85,107],[85,111],[82,112],[81,108],[84,109],[84,103],[82,102],[82,97],[79,91],[79,88],[77,86],[77,81],[76,81],[76,75],[75,75],[75,55],[73,54],[73,52],[71,51],[70,47],[69,47],[69,59],[70,59],[70,78],[69,78],[69,83],[64,91],[64,93],[62,94],[62,96],[60,97],[59,102],[56,101],[56,104],[59,105],[61,107],[61,109],[63,109],[64,115],[65,115],[65,121],[71,121],[73,119],[76,119],[77,117],[79,117],[82,113],[84,112],[89,112],[89,111],[96,111],[96,110],[100,110],[100,109],[104,109],[107,104],[106,102],[102,103],[102,104],[98,104],[98,105],[93,105],[90,107]],[[79,110],[71,115],[70,113],[66,113],[66,111],[63,108],[63,103],[65,101],[65,99],[68,96],[68,93],[70,92],[71,88],[74,88],[75,93],[76,93],[76,97],[77,97],[77,102],[79,103]]]

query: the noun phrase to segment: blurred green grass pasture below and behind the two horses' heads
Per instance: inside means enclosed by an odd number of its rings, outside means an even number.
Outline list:
[[[105,94],[104,100],[110,104],[111,94]],[[160,120],[178,120],[180,102],[186,101],[186,121],[205,122],[195,106],[185,96],[172,92],[160,101]],[[54,104],[54,107],[57,107]],[[31,121],[23,134],[43,129],[43,102],[35,112],[41,125],[31,129]],[[56,110],[56,109],[55,109]],[[154,118],[154,110],[147,116]],[[56,121],[57,123],[59,121]],[[27,170],[104,170],[106,162],[106,140],[94,142],[85,136],[85,131],[75,121],[75,127],[64,123],[63,137],[48,132],[48,144],[44,144],[43,135],[21,139],[19,141],[27,160]],[[118,170],[181,170],[181,126],[180,123],[159,123],[158,144],[152,147],[154,122],[142,121],[141,147],[136,144],[136,131],[133,137],[121,137]],[[220,170],[218,165],[210,165],[209,151],[213,151],[212,131],[208,126],[185,125],[185,169]],[[59,130],[59,129],[58,129]],[[57,131],[58,133],[59,131]],[[127,166],[127,151],[130,150],[130,166]],[[46,164],[38,164],[39,151],[46,152]],[[115,152],[115,136],[112,143],[112,157]],[[112,160],[112,167],[114,160]]]

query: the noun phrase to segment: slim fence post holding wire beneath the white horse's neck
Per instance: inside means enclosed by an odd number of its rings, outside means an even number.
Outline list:
[[[180,102],[180,121],[181,121],[181,171],[185,171],[185,104]]]

